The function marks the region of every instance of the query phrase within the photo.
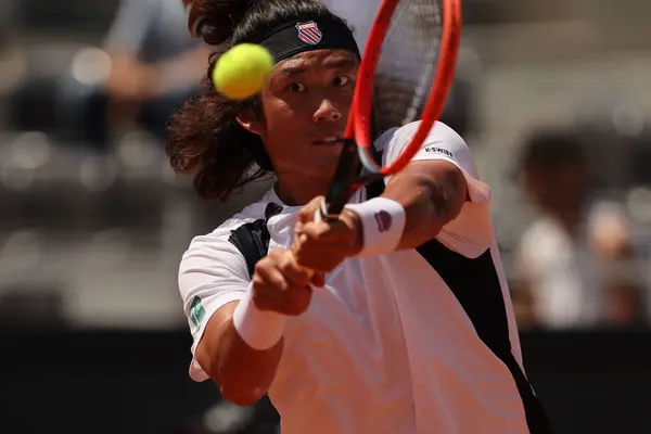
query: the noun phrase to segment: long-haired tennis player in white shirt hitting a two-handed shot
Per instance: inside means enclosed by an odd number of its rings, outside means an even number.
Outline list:
[[[268,393],[289,434],[549,433],[464,141],[437,123],[404,171],[314,222],[350,110],[353,33],[312,0],[189,3],[218,53],[254,42],[277,62],[255,101],[212,92],[170,125],[173,166],[201,196],[276,179],[183,255],[192,379],[242,406]],[[380,137],[384,165],[414,130]]]

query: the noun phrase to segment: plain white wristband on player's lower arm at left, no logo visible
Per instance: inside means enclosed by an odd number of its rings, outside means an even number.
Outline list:
[[[284,332],[284,315],[260,310],[253,303],[253,289],[248,285],[246,295],[233,311],[233,326],[242,340],[253,349],[269,349],[280,341]]]

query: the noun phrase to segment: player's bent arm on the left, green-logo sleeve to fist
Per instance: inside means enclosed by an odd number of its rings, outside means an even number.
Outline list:
[[[232,403],[255,404],[276,376],[286,318],[307,309],[309,283],[322,284],[319,278],[281,248],[258,260],[250,278],[230,242],[218,235],[193,241],[179,273],[195,342],[191,376],[210,378]]]

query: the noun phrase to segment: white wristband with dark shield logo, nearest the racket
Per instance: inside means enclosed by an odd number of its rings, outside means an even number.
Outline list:
[[[405,208],[396,201],[374,197],[360,204],[346,205],[359,216],[363,241],[360,256],[376,256],[396,250],[405,230]]]

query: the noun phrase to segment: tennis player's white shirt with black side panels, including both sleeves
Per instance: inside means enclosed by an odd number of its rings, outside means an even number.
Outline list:
[[[384,164],[416,127],[378,140]],[[471,202],[418,250],[344,260],[328,275],[327,286],[314,292],[307,312],[288,320],[269,390],[283,433],[548,432],[522,372],[489,218],[490,191],[478,180],[463,139],[442,123],[416,159],[459,167]],[[354,201],[366,194],[360,191]],[[179,286],[193,354],[210,315],[244,295],[256,255],[291,246],[298,209],[270,191],[192,241]],[[195,360],[190,375],[207,378]]]

